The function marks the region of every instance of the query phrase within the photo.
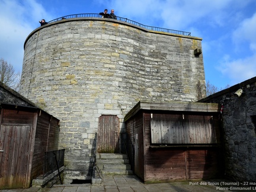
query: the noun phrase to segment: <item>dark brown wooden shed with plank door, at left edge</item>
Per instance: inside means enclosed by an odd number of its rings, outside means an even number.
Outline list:
[[[28,188],[58,149],[59,120],[37,107],[1,103],[0,189]]]

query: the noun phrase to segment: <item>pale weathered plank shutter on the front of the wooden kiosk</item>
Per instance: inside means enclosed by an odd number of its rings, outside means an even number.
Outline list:
[[[216,117],[191,114],[152,114],[152,143],[212,144],[217,143]],[[214,123],[215,122],[215,123]]]

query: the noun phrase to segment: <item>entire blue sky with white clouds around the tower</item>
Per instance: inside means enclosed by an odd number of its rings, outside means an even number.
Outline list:
[[[39,20],[107,8],[144,25],[203,39],[206,81],[219,88],[256,76],[255,0],[0,0],[0,57],[22,71],[24,41]]]

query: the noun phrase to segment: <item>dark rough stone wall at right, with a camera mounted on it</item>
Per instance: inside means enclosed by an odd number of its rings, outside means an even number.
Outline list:
[[[239,88],[244,91],[240,97],[234,94]],[[223,104],[226,176],[242,183],[255,182],[256,77],[210,95],[199,102]]]

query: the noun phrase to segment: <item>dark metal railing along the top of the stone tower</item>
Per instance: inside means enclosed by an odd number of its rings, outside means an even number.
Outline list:
[[[101,18],[102,16],[99,15],[99,14],[74,14],[74,15],[66,15],[66,16],[63,16],[63,17],[56,18],[55,20],[49,21],[48,23],[53,23],[55,21],[60,21],[60,20],[69,19],[69,18],[82,18],[82,17]],[[133,25],[137,25],[139,27],[146,28],[147,30],[159,31],[159,32],[164,32],[164,33],[174,33],[174,34],[180,34],[180,35],[183,35],[183,36],[191,36],[190,32],[172,30],[172,29],[161,28],[161,27],[152,27],[152,26],[149,26],[149,25],[143,25],[141,23],[137,23],[136,21],[132,21],[132,20],[129,20],[129,19],[123,18],[123,17],[118,17],[117,16],[117,20],[124,21],[124,22],[130,23],[130,24],[133,24]]]

